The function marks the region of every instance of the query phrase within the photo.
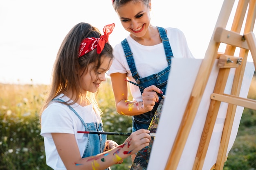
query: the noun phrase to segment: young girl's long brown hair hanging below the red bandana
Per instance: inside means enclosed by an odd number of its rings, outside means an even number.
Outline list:
[[[83,72],[84,74],[90,72],[91,70],[88,70],[88,65],[93,64],[94,66],[92,69],[97,75],[97,70],[101,65],[101,57],[104,55],[104,57],[110,57],[110,59],[113,58],[112,46],[108,43],[105,44],[100,54],[97,54],[96,48],[78,58],[80,42],[86,37],[99,38],[100,36],[101,33],[96,27],[84,22],[76,24],[66,35],[58,50],[52,71],[51,85],[49,86],[47,98],[40,111],[40,116],[56,96],[65,94],[65,92],[72,92],[72,96],[69,97],[74,100],[73,102],[67,101],[70,103],[65,102],[64,104],[72,105],[77,102],[79,100],[79,95],[81,94],[79,83],[81,74],[79,73]],[[83,97],[93,105],[95,113],[101,114],[94,93],[86,92],[86,95]]]

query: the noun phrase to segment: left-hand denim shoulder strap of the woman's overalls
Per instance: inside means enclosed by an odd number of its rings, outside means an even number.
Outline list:
[[[121,41],[121,45],[123,46],[124,49],[124,54],[126,56],[126,60],[128,62],[129,68],[131,70],[132,73],[132,77],[136,80],[139,80],[139,74],[137,72],[136,66],[135,66],[135,62],[132,56],[132,52],[130,50],[130,46],[128,44],[128,41],[126,39],[124,39],[123,41]],[[139,83],[139,82],[137,82]]]

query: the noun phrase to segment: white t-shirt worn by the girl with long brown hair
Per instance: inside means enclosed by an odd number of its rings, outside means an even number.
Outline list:
[[[61,99],[64,101],[70,100],[67,96],[62,96]],[[71,107],[85,123],[102,123],[100,116],[94,112],[92,105],[82,107],[75,103]],[[42,113],[40,132],[40,135],[44,137],[46,163],[48,166],[54,170],[66,170],[61,157],[58,155],[51,133],[74,134],[80,155],[81,157],[83,156],[88,135],[77,133],[77,131],[85,131],[85,127],[78,116],[67,105],[56,101],[51,102]]]

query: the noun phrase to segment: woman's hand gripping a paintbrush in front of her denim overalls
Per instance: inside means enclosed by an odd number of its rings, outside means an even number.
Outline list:
[[[155,103],[158,102],[159,97],[157,96],[157,93],[162,93],[162,91],[155,85],[151,85],[144,89],[142,93],[142,100],[146,112],[151,111],[155,106]]]

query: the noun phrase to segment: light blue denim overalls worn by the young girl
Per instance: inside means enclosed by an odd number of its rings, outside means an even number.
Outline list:
[[[64,100],[61,99],[53,99],[61,102],[65,102]],[[76,116],[81,120],[83,123],[83,126],[85,127],[85,131],[103,131],[103,124],[102,123],[97,123],[97,122],[92,122],[92,123],[85,123],[83,119],[79,116],[78,113],[70,106],[67,105],[75,114]],[[87,141],[87,146],[83,152],[83,157],[90,157],[90,156],[95,156],[99,153],[102,153],[105,147],[105,143],[107,141],[107,135],[102,135],[102,134],[88,134],[88,141]],[[107,168],[106,170],[110,170]]]

